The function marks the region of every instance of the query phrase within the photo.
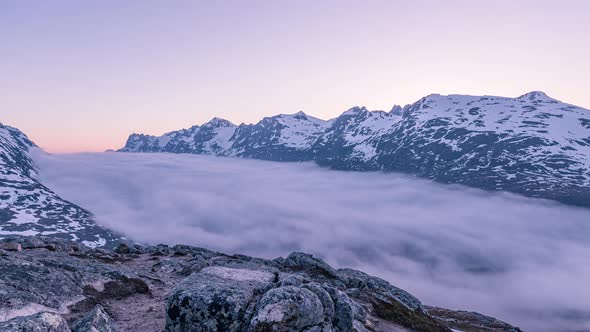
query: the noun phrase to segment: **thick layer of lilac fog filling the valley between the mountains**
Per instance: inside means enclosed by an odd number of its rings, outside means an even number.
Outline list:
[[[146,243],[312,253],[424,303],[590,329],[590,210],[398,174],[172,154],[38,154],[42,181]]]

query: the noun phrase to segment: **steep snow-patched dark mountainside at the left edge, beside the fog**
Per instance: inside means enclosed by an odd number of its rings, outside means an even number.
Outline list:
[[[97,226],[90,212],[41,184],[31,153],[42,151],[24,133],[0,123],[0,238],[45,235],[93,247],[121,240]]]

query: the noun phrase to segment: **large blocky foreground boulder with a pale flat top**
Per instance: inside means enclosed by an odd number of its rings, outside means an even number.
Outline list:
[[[222,266],[193,273],[170,294],[167,331],[240,331],[248,306],[274,281],[270,272]]]

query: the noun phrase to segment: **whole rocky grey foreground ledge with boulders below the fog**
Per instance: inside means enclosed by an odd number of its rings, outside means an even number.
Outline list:
[[[303,253],[0,240],[0,331],[521,331]]]

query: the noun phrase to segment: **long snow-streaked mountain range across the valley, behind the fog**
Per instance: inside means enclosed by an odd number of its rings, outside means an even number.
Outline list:
[[[253,125],[212,122],[161,137],[134,134],[120,151],[314,160],[590,206],[590,111],[539,91],[433,94],[389,112],[354,107],[331,121],[300,112]]]

